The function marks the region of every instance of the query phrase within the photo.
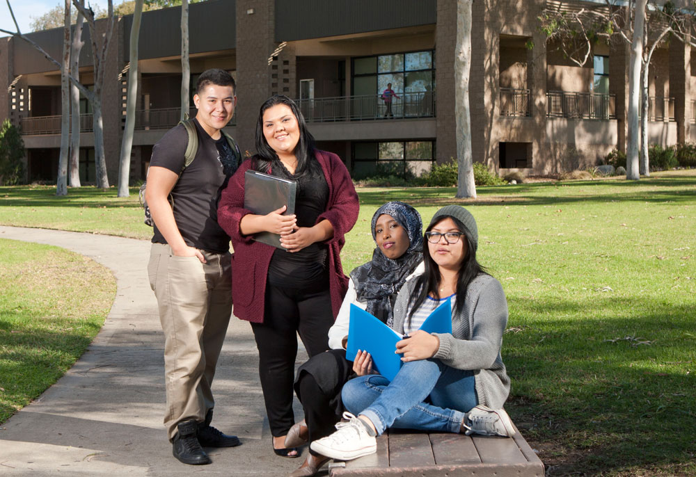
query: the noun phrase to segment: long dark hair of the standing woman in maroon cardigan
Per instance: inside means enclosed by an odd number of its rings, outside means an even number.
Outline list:
[[[304,120],[302,113],[300,112],[297,105],[285,95],[274,95],[269,97],[269,99],[261,105],[259,110],[259,118],[256,122],[256,156],[254,157],[254,166],[256,170],[261,172],[270,172],[271,165],[280,162],[278,154],[269,146],[266,137],[263,135],[263,115],[267,109],[276,106],[276,104],[285,104],[285,106],[290,108],[292,114],[297,120],[297,124],[300,130],[300,138],[295,146],[294,154],[297,159],[297,166],[295,168],[296,176],[302,176],[306,171],[309,170],[308,164],[313,162],[311,159],[314,158],[314,136],[310,134],[307,129],[307,124]]]

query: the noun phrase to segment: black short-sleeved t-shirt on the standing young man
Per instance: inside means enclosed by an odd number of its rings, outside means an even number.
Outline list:
[[[194,119],[193,123],[198,132],[198,151],[172,189],[174,220],[187,245],[223,253],[230,250],[230,237],[217,223],[217,207],[223,188],[237,170],[237,163],[224,136],[214,140],[198,120]],[[184,167],[188,143],[189,136],[181,124],[170,129],[152,147],[150,166],[166,168],[178,175]],[[157,225],[154,228],[152,242],[167,243]]]

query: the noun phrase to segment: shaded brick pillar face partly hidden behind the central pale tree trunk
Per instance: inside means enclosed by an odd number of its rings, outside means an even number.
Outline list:
[[[474,8],[476,8],[474,2]],[[476,24],[474,20],[472,22]],[[471,35],[472,42],[476,35]],[[450,158],[457,158],[457,138],[454,128],[454,47],[457,44],[457,1],[437,1],[437,26],[436,26],[436,55],[435,55],[435,104],[436,104],[436,159],[438,163],[447,162]],[[472,45],[472,60],[474,47]],[[475,103],[473,94],[474,64],[471,64],[469,81],[469,98],[472,106]],[[471,136],[477,137],[474,127],[477,124],[474,115],[471,115]],[[474,161],[477,155],[473,155]]]

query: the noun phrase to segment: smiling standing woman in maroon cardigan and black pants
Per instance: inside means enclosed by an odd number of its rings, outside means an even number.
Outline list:
[[[223,191],[218,223],[234,247],[234,314],[251,321],[274,452],[297,457],[296,448],[284,444],[294,424],[296,333],[310,357],[329,349],[329,328],[348,286],[340,250],[358,218],[358,195],[340,158],[314,149],[288,97],[276,95],[261,106],[256,149]],[[258,216],[244,209],[248,169],[296,181],[295,213],[283,216],[283,207]],[[258,232],[280,234],[285,250],[254,241]]]

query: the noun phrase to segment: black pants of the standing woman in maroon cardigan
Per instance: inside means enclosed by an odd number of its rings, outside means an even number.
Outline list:
[[[294,424],[292,382],[299,332],[310,357],[329,349],[333,325],[327,282],[304,289],[266,286],[264,323],[251,323],[259,350],[259,377],[271,434],[287,434]]]

